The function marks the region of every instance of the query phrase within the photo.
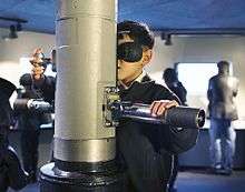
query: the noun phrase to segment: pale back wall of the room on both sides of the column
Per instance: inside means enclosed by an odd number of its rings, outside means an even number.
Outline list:
[[[8,30],[0,30],[0,36],[8,34]],[[20,77],[20,57],[29,57],[35,48],[41,47],[46,55],[55,46],[55,36],[35,32],[21,32],[19,38],[11,41],[0,40],[0,77],[18,85]],[[237,105],[239,117],[245,117],[245,37],[173,37],[173,46],[165,46],[156,36],[155,53],[147,71],[159,81],[163,70],[176,62],[217,62],[229,60],[234,64],[234,74],[239,79]],[[198,77],[197,77],[198,81]],[[188,98],[189,105],[205,107],[205,99]]]

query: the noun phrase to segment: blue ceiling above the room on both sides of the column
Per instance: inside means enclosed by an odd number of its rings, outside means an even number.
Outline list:
[[[55,33],[56,0],[0,0],[0,18],[23,19],[23,30]],[[173,33],[245,33],[245,0],[118,0],[118,20]],[[16,24],[0,19],[0,28]]]

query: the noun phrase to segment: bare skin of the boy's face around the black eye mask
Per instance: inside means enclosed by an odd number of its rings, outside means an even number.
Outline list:
[[[128,34],[122,34],[122,39],[118,39],[118,46],[134,42],[134,40]],[[149,62],[151,58],[151,50],[143,50],[143,57],[139,61],[127,62],[122,59],[117,60],[118,65],[118,80],[128,83],[136,79],[143,72],[143,68]]]

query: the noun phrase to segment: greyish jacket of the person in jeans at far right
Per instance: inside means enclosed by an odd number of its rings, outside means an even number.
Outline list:
[[[237,120],[234,98],[238,91],[238,80],[228,74],[210,78],[207,91],[209,117],[214,119]]]

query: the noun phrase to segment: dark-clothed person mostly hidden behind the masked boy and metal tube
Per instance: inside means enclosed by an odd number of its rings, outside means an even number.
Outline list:
[[[164,81],[166,85],[169,88],[170,91],[173,91],[180,100],[183,105],[186,104],[186,94],[187,91],[185,87],[182,84],[182,82],[178,80],[177,73],[174,69],[167,68],[164,71]],[[174,155],[174,165],[171,171],[171,176],[168,183],[168,192],[176,192],[177,188],[175,186],[175,181],[177,179],[178,174],[178,155]]]

